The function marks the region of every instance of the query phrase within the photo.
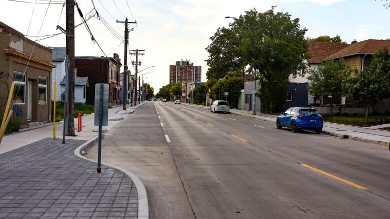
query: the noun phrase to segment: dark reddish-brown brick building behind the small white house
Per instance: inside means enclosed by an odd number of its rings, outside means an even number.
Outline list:
[[[75,56],[75,76],[88,77],[86,103],[93,104],[94,84],[109,84],[108,104],[115,106],[120,99],[120,63],[119,55],[113,53],[113,57]]]

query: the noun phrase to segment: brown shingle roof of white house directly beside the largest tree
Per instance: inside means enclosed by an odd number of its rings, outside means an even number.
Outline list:
[[[349,46],[349,44],[334,43],[334,42],[314,42],[308,41],[308,52],[310,58],[308,63],[321,63],[327,56]]]

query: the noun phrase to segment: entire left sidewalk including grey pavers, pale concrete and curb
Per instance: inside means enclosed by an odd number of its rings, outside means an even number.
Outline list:
[[[109,108],[108,126],[103,128],[110,130],[142,105],[128,105],[126,111]],[[52,139],[52,124],[4,136],[0,145],[0,218],[148,219],[146,191],[136,176],[105,165],[97,174],[96,161],[79,155],[81,149],[96,142],[93,120],[93,114],[83,116],[82,131],[65,136],[65,144],[62,122],[56,123],[56,140]],[[77,118],[74,122],[77,126]]]

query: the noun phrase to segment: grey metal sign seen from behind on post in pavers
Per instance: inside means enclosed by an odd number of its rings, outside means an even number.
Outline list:
[[[101,172],[101,127],[108,125],[108,84],[95,85],[94,125],[99,126],[97,148],[97,173]]]

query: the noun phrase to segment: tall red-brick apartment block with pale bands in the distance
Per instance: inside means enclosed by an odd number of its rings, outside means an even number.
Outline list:
[[[169,84],[185,81],[199,82],[201,73],[201,66],[194,66],[193,62],[181,59],[181,61],[176,61],[176,65],[169,65]]]

